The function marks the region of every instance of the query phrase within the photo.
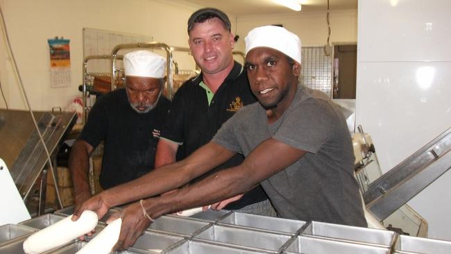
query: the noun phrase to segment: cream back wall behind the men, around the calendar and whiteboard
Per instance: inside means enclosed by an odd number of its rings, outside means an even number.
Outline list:
[[[186,47],[187,19],[194,10],[201,8],[177,0],[0,0],[0,4],[33,110],[50,110],[52,107],[64,109],[75,96],[80,96],[78,85],[82,83],[83,28],[152,35],[155,41]],[[235,31],[235,24],[238,23],[237,33],[241,36],[235,49],[244,51],[244,37],[248,31],[264,24],[283,24],[297,33],[305,45],[325,44],[325,12],[293,13],[237,19],[229,13],[232,31]],[[332,11],[330,22],[331,42],[357,41],[357,11]],[[50,85],[49,46],[46,40],[55,36],[70,40],[70,87],[53,88]],[[191,60],[185,56],[180,58]],[[237,59],[241,62],[241,59]],[[183,63],[181,65],[183,67]],[[0,41],[0,81],[9,108],[26,109],[3,36]],[[2,98],[0,107],[5,108]]]

